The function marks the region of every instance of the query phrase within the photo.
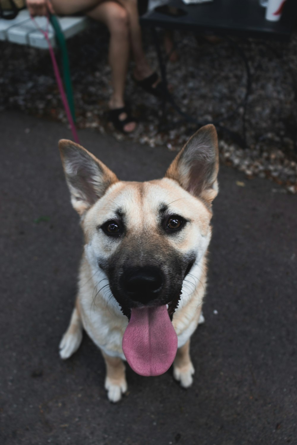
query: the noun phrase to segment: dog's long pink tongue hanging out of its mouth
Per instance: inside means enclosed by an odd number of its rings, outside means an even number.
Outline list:
[[[133,308],[122,348],[130,367],[141,376],[166,372],[177,351],[177,335],[167,307]]]

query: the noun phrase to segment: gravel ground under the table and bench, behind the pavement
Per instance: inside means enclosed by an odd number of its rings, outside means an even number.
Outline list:
[[[167,64],[167,78],[183,111],[199,121],[217,120],[234,111],[244,98],[247,82],[244,61],[236,46],[228,40],[212,44],[182,32],[175,32],[175,40],[179,42],[179,61]],[[243,171],[248,178],[269,178],[283,186],[273,188],[275,191],[297,193],[297,32],[289,44],[233,41],[248,58],[252,89],[246,113],[246,144],[236,144],[228,133],[220,131],[221,161]],[[193,133],[193,125],[182,122],[167,106],[167,126],[160,128],[160,103],[134,85],[130,77],[132,63],[126,97],[140,123],[129,136],[113,131],[106,120],[111,93],[107,42],[105,28],[95,23],[69,40],[77,126],[112,133],[118,140],[179,150]],[[146,30],[144,44],[151,65],[157,67]],[[66,122],[49,53],[7,42],[0,42],[0,53],[0,110],[24,110]],[[242,114],[240,107],[222,125],[241,133]]]

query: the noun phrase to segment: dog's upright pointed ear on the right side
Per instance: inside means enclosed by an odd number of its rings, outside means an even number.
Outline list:
[[[214,125],[205,125],[188,140],[169,166],[165,178],[211,205],[218,194],[218,138]]]

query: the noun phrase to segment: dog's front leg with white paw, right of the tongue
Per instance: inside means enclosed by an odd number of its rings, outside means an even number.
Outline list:
[[[190,340],[187,340],[187,343],[177,350],[173,363],[173,376],[183,388],[188,388],[193,383],[194,372],[190,357]]]

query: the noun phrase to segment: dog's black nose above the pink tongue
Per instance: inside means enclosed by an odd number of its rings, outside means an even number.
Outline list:
[[[140,303],[157,298],[163,285],[163,276],[157,267],[135,267],[124,272],[122,287],[129,297]]]

